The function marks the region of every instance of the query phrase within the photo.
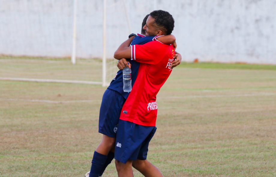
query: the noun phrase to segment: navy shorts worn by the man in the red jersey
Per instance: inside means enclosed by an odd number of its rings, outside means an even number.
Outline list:
[[[149,127],[119,120],[114,158],[122,163],[128,160],[146,160],[149,142],[155,131],[155,126]]]

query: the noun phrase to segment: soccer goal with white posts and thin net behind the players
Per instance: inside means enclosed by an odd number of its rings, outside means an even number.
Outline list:
[[[113,53],[130,31],[126,5],[1,1],[0,79],[109,85],[118,70]]]

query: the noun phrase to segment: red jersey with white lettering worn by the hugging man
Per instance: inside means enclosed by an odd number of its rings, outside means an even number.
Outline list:
[[[175,51],[173,45],[159,41],[131,46],[131,60],[140,62],[138,75],[120,119],[143,126],[155,126],[156,95],[170,76]]]

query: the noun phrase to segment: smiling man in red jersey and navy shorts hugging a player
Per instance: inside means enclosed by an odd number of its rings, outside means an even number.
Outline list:
[[[169,35],[173,28],[172,15],[163,10],[150,13],[143,27],[146,34],[153,36]],[[141,164],[146,163],[149,141],[156,131],[156,95],[172,72],[175,55],[173,45],[152,41],[129,46],[132,39],[121,44],[114,53],[116,59],[131,58],[140,62],[136,81],[123,105],[118,125],[115,159],[119,177],[133,176],[132,165],[140,169],[140,166],[143,167]],[[153,173],[139,171],[144,176],[162,176],[153,165],[149,168],[152,168]]]

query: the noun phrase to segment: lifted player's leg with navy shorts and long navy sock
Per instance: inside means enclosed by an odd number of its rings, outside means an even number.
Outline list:
[[[114,147],[119,115],[125,99],[118,92],[107,89],[103,95],[99,116],[99,133],[103,139],[94,152],[89,177],[100,176],[114,158]]]

